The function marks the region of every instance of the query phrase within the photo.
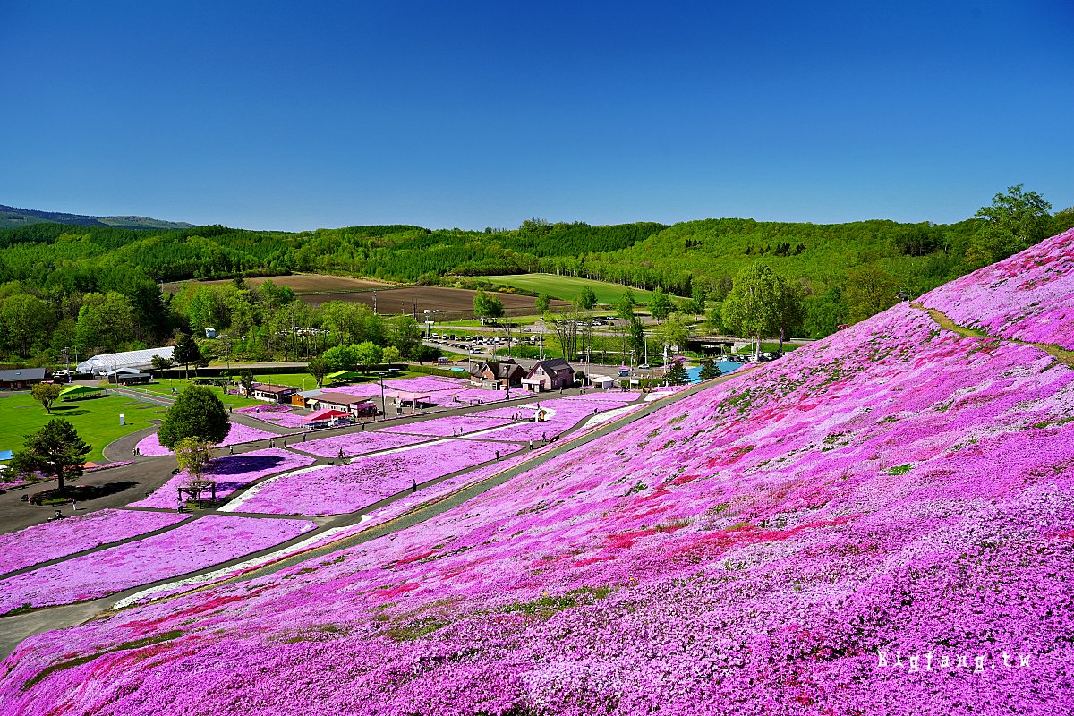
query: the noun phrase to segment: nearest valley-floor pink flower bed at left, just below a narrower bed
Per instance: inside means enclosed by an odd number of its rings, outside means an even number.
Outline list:
[[[299,520],[205,515],[143,540],[0,580],[0,614],[26,604],[104,597],[271,547],[315,526]]]

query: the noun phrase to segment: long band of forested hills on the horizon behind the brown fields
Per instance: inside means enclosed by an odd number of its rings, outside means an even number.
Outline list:
[[[1048,221],[1042,235],[1059,233],[1074,219],[1064,211]],[[494,280],[497,274],[543,272],[691,295],[694,283],[720,293],[739,269],[764,260],[814,294],[865,267],[919,294],[990,262],[988,247],[977,246],[982,224],[705,219],[592,227],[531,220],[483,232],[394,224],[286,233],[37,223],[0,230],[0,282],[92,284],[99,269],[114,266],[140,269],[154,281],[321,272],[436,283],[452,276]]]

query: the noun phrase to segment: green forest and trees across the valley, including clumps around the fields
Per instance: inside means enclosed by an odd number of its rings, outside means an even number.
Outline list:
[[[886,308],[899,292],[919,295],[1074,225],[1074,210],[1053,215],[1050,208],[1019,186],[954,224],[705,219],[594,227],[531,219],[511,230],[395,224],[286,233],[41,222],[0,230],[0,361],[56,364],[64,348],[82,360],[159,346],[206,325],[238,336],[236,354],[297,354],[295,328],[317,335],[344,320],[331,318],[342,309],[310,308],[272,283],[251,290],[241,280],[195,282],[175,296],[159,288],[173,280],[292,272],[449,286],[466,277],[495,286],[496,275],[541,272],[691,296],[693,312],[708,307],[717,324],[735,277],[764,263],[795,287],[802,304],[792,333],[822,337]],[[346,321],[367,330],[339,336],[391,344],[392,328],[382,318]],[[292,338],[281,339],[285,334]],[[303,352],[328,348],[321,342],[307,338]]]

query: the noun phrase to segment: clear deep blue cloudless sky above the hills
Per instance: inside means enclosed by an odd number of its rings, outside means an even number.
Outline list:
[[[1066,0],[9,2],[0,204],[949,222],[1021,182],[1059,210],[1072,35]]]

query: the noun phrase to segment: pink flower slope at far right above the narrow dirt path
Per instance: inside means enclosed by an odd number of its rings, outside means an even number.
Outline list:
[[[921,296],[959,325],[1074,350],[1074,229]]]

